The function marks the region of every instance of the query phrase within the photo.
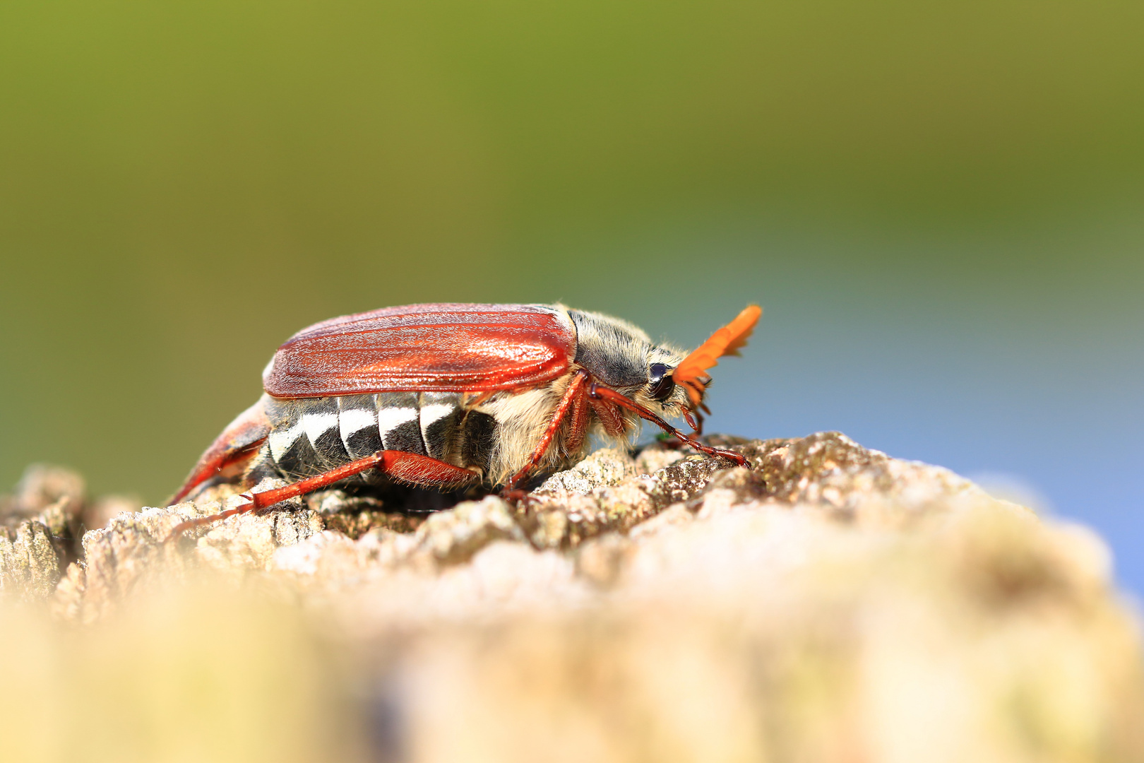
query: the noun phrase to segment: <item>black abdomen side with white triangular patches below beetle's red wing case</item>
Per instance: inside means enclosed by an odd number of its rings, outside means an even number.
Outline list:
[[[303,479],[381,450],[428,455],[487,471],[495,421],[459,392],[379,392],[269,398],[270,456],[281,476]],[[374,471],[366,483],[383,482]]]

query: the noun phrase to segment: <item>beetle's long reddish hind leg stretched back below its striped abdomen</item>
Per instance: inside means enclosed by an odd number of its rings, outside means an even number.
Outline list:
[[[367,455],[364,459],[358,459],[357,461],[350,461],[349,463],[337,467],[336,469],[324,471],[320,475],[301,479],[284,487],[267,490],[261,493],[253,493],[249,495],[249,502],[237,506],[233,509],[227,509],[225,511],[220,511],[219,514],[212,514],[208,517],[198,517],[197,519],[181,522],[170,531],[170,535],[167,537],[167,540],[177,538],[181,533],[186,530],[191,530],[192,527],[199,527],[201,525],[210,524],[212,522],[217,522],[219,519],[225,519],[227,517],[232,517],[236,514],[264,509],[268,506],[278,503],[279,501],[286,501],[297,495],[312,493],[316,490],[321,490],[323,487],[332,485],[340,479],[352,477],[353,475],[365,471],[366,469],[378,469],[402,482],[434,487],[460,486],[466,483],[470,483],[478,477],[475,471],[462,469],[461,467],[455,467],[452,463],[445,463],[444,461],[438,461],[437,459],[430,459],[428,455],[405,453],[404,451],[379,451],[373,455]]]

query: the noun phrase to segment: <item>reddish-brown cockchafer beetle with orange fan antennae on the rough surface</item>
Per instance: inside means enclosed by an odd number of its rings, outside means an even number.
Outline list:
[[[745,466],[694,435],[707,369],[738,355],[761,315],[746,308],[690,355],[562,304],[412,304],[315,324],[278,348],[262,372],[265,394],[207,448],[172,503],[220,478],[289,484],[172,537],[334,483],[484,483],[511,494],[534,469],[581,459],[589,432],[627,439],[639,419]],[[675,415],[694,435],[665,421]]]

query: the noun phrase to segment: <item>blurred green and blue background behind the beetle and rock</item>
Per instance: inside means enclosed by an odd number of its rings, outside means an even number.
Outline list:
[[[8,0],[0,485],[161,501],[334,315],[563,300],[694,344],[757,301],[713,429],[991,472],[1144,590],[1142,22]]]

